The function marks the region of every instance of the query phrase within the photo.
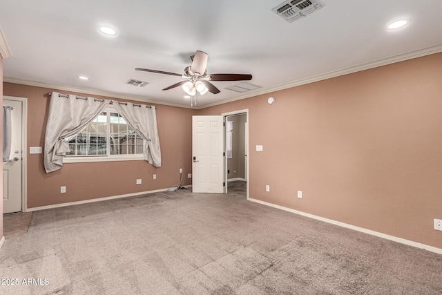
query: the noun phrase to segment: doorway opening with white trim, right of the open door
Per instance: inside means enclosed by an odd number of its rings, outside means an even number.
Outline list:
[[[249,110],[223,113],[224,131],[224,180],[225,193],[231,189],[245,189],[249,198]]]

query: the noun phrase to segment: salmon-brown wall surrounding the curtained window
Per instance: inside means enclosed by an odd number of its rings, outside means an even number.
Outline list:
[[[30,155],[29,147],[44,146],[50,100],[46,93],[53,90],[3,84],[4,95],[28,98],[28,208],[166,189],[180,183],[180,168],[184,175],[191,173],[191,116],[195,110],[158,105],[162,167],[155,168],[144,160],[70,163],[64,164],[59,171],[46,174],[42,154]],[[69,91],[57,92],[86,96]],[[153,180],[153,174],[157,174],[156,180]],[[137,178],[142,179],[142,184],[135,184]],[[187,184],[191,184],[191,180],[184,177],[183,185]],[[66,186],[66,193],[60,193],[61,186]]]

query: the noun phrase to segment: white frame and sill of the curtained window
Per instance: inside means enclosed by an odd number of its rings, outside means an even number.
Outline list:
[[[103,110],[106,112],[106,116],[109,117],[110,113],[119,112],[112,107],[105,108]],[[109,142],[109,137],[111,133],[111,124],[107,124],[106,131],[106,151],[110,150],[111,143]],[[146,144],[146,140],[143,139],[143,146]],[[144,160],[144,153],[141,154],[130,154],[130,155],[71,155],[63,158],[63,164],[68,163],[86,163],[86,162],[113,162],[113,161],[140,161]]]

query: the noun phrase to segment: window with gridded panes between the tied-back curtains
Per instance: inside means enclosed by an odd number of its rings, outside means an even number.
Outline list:
[[[113,108],[106,108],[84,129],[66,140],[70,153],[64,162],[144,159],[144,140]]]

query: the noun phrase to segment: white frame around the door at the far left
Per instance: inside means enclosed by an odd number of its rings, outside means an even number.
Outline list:
[[[28,211],[28,99],[26,97],[14,97],[3,95],[3,100],[21,102],[21,212]],[[3,214],[3,212],[1,212]]]

